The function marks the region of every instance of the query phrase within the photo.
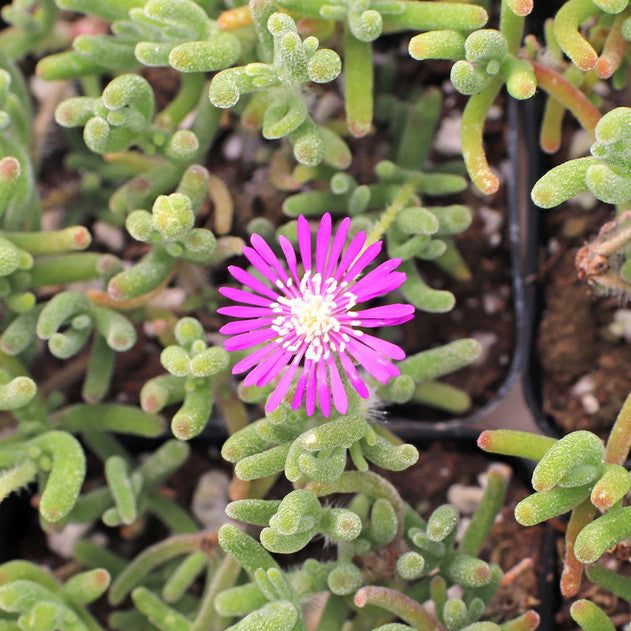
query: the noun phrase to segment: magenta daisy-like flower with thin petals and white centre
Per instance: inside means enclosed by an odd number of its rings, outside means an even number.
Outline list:
[[[407,322],[414,317],[414,307],[391,304],[361,311],[353,311],[353,308],[396,289],[405,281],[405,274],[394,271],[401,259],[390,259],[358,279],[381,251],[382,242],[364,248],[366,233],[360,232],[342,252],[349,225],[350,219],[344,219],[332,235],[331,215],[326,213],[322,217],[314,261],[309,222],[302,216],[298,218],[302,274],[298,270],[296,253],[283,236],[279,241],[287,268],[257,234],[250,240],[252,247],[243,248],[250,263],[270,285],[239,267],[228,267],[234,278],[253,293],[230,287],[219,289],[227,298],[243,303],[218,310],[242,318],[221,328],[220,333],[232,336],[225,342],[226,350],[243,350],[263,344],[238,362],[232,369],[233,374],[249,370],[244,385],[263,386],[284,371],[267,400],[267,412],[278,407],[301,365],[292,408],[300,407],[306,393],[309,416],[315,410],[317,399],[322,413],[328,417],[331,394],[335,409],[340,414],[347,412],[348,398],[340,367],[363,398],[368,398],[369,392],[355,363],[381,383],[400,374],[388,358],[403,359],[403,350],[356,327]]]

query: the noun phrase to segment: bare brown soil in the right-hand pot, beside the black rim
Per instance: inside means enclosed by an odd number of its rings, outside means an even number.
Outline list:
[[[627,299],[598,295],[579,280],[574,258],[586,239],[612,219],[611,207],[582,210],[576,204],[548,211],[548,245],[541,251],[538,281],[545,287],[537,353],[543,412],[565,434],[577,429],[608,435],[631,392],[631,343],[612,332]]]

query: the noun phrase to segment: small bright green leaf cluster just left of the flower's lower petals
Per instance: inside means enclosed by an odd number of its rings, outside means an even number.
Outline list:
[[[147,412],[159,412],[182,403],[171,429],[176,438],[188,440],[200,434],[210,418],[215,392],[224,385],[228,353],[220,346],[208,347],[195,318],[179,320],[174,334],[177,343],[160,355],[169,374],[154,377],[143,386],[140,404]]]

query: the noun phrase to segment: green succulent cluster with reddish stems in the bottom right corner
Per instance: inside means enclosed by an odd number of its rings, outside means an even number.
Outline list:
[[[485,451],[537,460],[532,474],[535,493],[515,507],[524,526],[571,512],[561,592],[575,596],[583,569],[594,583],[631,603],[631,581],[596,563],[609,549],[631,535],[631,508],[624,499],[631,490],[631,473],[624,462],[629,448],[629,404],[623,405],[607,445],[585,430],[558,440],[514,430],[485,431],[478,445]],[[580,599],[570,613],[585,631],[613,630],[605,612]]]

